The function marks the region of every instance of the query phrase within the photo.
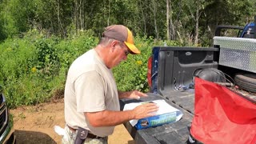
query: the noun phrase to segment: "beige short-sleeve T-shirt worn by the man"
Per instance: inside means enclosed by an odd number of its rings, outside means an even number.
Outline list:
[[[120,110],[118,90],[112,71],[106,67],[96,51],[89,50],[77,58],[67,74],[65,86],[66,124],[78,126],[105,137],[113,133],[114,126],[93,127],[84,112]]]

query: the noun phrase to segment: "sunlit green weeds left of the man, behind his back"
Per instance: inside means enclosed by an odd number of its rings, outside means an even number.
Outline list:
[[[91,31],[74,38],[46,38],[37,30],[0,45],[0,85],[13,108],[49,101],[64,90],[66,72],[79,55],[96,46]]]

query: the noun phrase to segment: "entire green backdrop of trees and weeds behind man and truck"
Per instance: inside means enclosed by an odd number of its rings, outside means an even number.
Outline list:
[[[209,46],[217,25],[253,20],[254,0],[170,1],[174,40],[166,41],[166,1],[0,0],[0,84],[11,107],[49,100],[64,89],[66,72],[98,43],[104,27],[123,24],[142,51],[114,68],[119,90],[148,90],[147,59],[153,46]],[[155,40],[154,38],[158,38]]]

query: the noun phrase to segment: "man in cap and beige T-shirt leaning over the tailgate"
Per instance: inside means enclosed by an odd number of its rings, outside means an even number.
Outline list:
[[[137,90],[117,90],[111,69],[126,60],[128,54],[140,54],[133,35],[126,26],[114,25],[106,27],[98,46],[72,63],[64,96],[68,138],[62,138],[62,143],[74,143],[86,137],[84,143],[106,144],[114,126],[153,116],[158,110],[154,103],[148,103],[134,110],[120,111],[118,98],[146,96]]]

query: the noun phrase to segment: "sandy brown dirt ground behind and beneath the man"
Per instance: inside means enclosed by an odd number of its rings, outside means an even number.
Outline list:
[[[65,126],[63,99],[42,103],[38,106],[21,106],[10,110],[14,116],[14,129],[19,144],[61,143],[61,136],[54,126]],[[109,144],[134,144],[133,138],[123,125],[116,126],[109,137]]]

